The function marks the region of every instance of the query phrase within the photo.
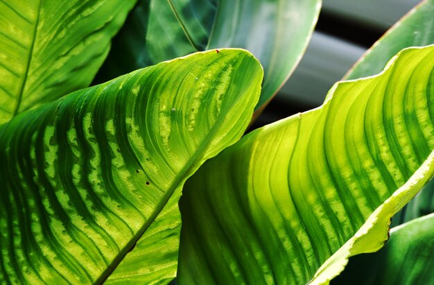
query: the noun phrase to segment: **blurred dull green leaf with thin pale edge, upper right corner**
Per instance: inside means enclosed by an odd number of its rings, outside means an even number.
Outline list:
[[[399,20],[348,71],[345,79],[378,74],[401,49],[434,44],[434,0],[424,0]]]

